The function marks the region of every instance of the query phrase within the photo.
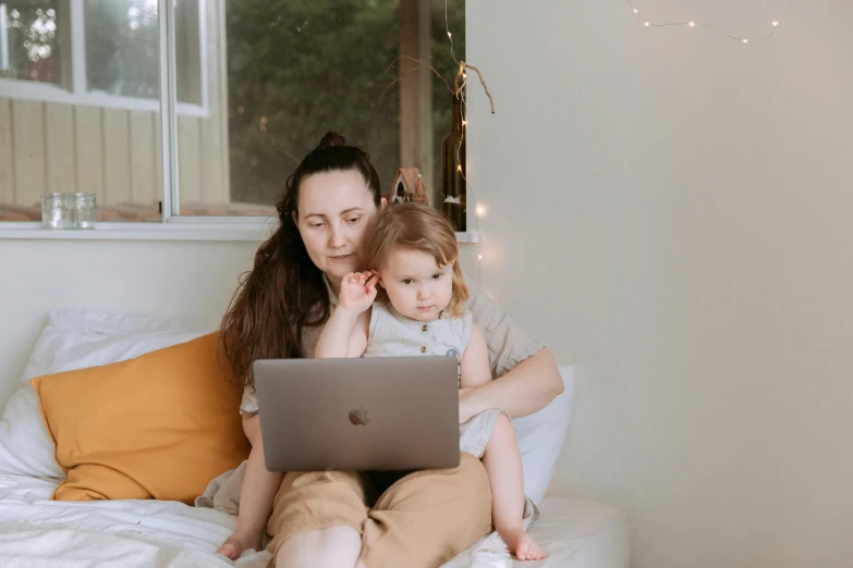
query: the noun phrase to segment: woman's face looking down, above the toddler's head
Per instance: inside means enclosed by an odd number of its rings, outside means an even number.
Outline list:
[[[294,221],[308,256],[337,289],[364,267],[367,229],[376,214],[373,193],[355,170],[325,172],[302,181]]]

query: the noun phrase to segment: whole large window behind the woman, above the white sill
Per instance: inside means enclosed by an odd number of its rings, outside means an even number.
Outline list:
[[[447,0],[456,60],[464,11]],[[39,220],[52,192],[96,193],[101,223],[268,217],[330,129],[383,193],[414,166],[440,200],[444,0],[0,0],[0,220]]]

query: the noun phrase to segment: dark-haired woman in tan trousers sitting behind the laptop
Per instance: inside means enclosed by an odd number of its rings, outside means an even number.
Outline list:
[[[381,206],[369,156],[328,133],[288,180],[277,205],[281,224],[258,249],[222,321],[226,355],[244,387],[243,428],[253,444],[237,528],[220,548],[229,557],[259,544],[258,519],[267,517],[273,536],[268,548],[276,566],[287,568],[440,566],[491,530],[488,480],[467,454],[452,470],[402,478],[294,472],[283,476],[275,499],[258,489],[281,474],[263,467],[252,362],[313,356],[342,277],[364,269],[366,233]],[[500,378],[460,393],[460,421],[490,408],[515,417],[539,410],[562,392],[553,357],[468,284],[468,308],[486,337],[492,374]]]

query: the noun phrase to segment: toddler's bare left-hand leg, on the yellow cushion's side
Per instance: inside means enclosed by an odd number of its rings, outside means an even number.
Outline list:
[[[240,487],[236,530],[217,551],[232,560],[239,558],[243,551],[261,550],[264,528],[272,513],[272,499],[283,477],[283,473],[267,470],[260,428],[254,434],[251,440],[252,452],[246,462],[246,473]]]

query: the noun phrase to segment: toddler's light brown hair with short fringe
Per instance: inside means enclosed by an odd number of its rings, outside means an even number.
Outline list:
[[[468,288],[459,266],[456,234],[448,219],[431,207],[419,203],[399,203],[380,212],[365,249],[367,270],[381,274],[394,247],[421,250],[431,255],[436,264],[453,264],[453,292],[446,308],[452,316],[462,316]]]

